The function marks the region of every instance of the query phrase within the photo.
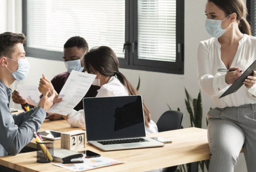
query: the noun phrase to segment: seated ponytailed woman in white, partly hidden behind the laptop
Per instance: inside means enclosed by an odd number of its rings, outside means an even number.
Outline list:
[[[138,95],[138,91],[119,71],[119,62],[115,52],[107,46],[90,49],[84,56],[84,64],[88,73],[97,75],[94,84],[100,86],[96,97]],[[99,104],[100,107],[100,104]],[[150,111],[143,102],[146,133],[157,133],[156,123],[151,120]],[[85,125],[83,110],[72,110],[68,115],[68,123],[72,127]]]

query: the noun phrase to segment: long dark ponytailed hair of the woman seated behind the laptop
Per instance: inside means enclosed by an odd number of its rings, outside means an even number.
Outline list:
[[[94,47],[84,56],[84,64],[88,73],[92,72],[90,66],[103,76],[114,76],[124,85],[129,95],[138,95],[138,91],[119,71],[119,62],[115,52],[107,46]],[[149,127],[150,111],[143,101],[145,125]]]

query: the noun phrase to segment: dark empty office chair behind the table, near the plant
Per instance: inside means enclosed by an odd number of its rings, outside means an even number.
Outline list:
[[[159,132],[178,130],[181,128],[181,123],[184,114],[176,110],[167,110],[164,112],[156,123]],[[175,172],[178,166],[164,168],[162,172]]]

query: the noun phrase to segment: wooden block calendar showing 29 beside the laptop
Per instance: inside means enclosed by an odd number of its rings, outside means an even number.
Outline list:
[[[68,150],[83,149],[86,145],[85,138],[85,131],[82,130],[61,133],[61,148]]]

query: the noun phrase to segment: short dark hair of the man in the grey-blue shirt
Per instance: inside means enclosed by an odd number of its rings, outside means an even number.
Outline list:
[[[11,58],[14,52],[14,45],[17,43],[24,44],[26,36],[21,33],[4,32],[0,34],[0,57],[7,56]]]

